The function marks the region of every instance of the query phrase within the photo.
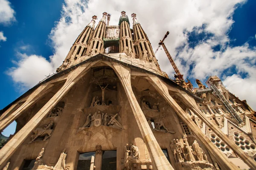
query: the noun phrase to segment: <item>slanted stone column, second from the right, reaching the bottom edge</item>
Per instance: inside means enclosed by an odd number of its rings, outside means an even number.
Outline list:
[[[193,131],[193,133],[201,140],[201,142],[215,155],[218,163],[221,164],[221,169],[225,170],[239,170],[239,168],[234,165],[228,158],[225,156],[221,150],[219,150],[198,128],[197,125],[189,118],[185,111],[175,102],[172,96],[169,94],[168,88],[165,83],[163,83],[158,77],[148,74],[146,77],[149,81],[151,81],[154,88],[159,92],[161,96],[166,100],[166,102],[171,105],[171,107],[176,111],[178,116],[188,125],[188,127]],[[194,113],[195,111],[192,110]]]

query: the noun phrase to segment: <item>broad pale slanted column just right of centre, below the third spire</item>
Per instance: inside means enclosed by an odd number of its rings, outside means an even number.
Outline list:
[[[137,125],[140,129],[143,140],[147,146],[154,170],[174,170],[172,165],[167,160],[166,156],[162,152],[157,140],[154,137],[151,128],[148,125],[148,122],[144,116],[143,111],[140,108],[139,103],[132,91],[131,88],[131,69],[126,68],[120,64],[113,63],[113,66],[116,70],[125,93],[127,95],[128,101],[131,105],[134,117],[136,119]],[[140,148],[139,148],[140,149]]]

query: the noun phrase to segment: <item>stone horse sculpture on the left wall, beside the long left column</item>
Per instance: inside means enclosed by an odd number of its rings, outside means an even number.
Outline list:
[[[53,121],[50,121],[47,125],[44,126],[44,128],[38,127],[33,130],[34,134],[31,136],[31,142],[34,142],[38,137],[44,137],[43,141],[49,139],[49,137],[52,136],[52,127]]]

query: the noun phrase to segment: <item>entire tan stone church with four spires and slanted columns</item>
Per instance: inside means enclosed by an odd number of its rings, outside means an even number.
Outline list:
[[[217,76],[170,79],[136,14],[110,18],[93,16],[57,73],[0,111],[0,131],[17,122],[0,169],[255,170],[246,100]]]

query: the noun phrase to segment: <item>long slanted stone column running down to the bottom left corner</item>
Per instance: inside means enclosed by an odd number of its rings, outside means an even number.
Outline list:
[[[87,65],[87,64],[85,64]],[[41,108],[35,116],[0,150],[0,169],[8,161],[17,148],[24,142],[29,134],[34,130],[41,120],[52,110],[52,108],[67,94],[67,92],[86,74],[89,67],[80,66],[67,77],[67,81],[62,88]],[[83,72],[83,73],[82,73]]]

